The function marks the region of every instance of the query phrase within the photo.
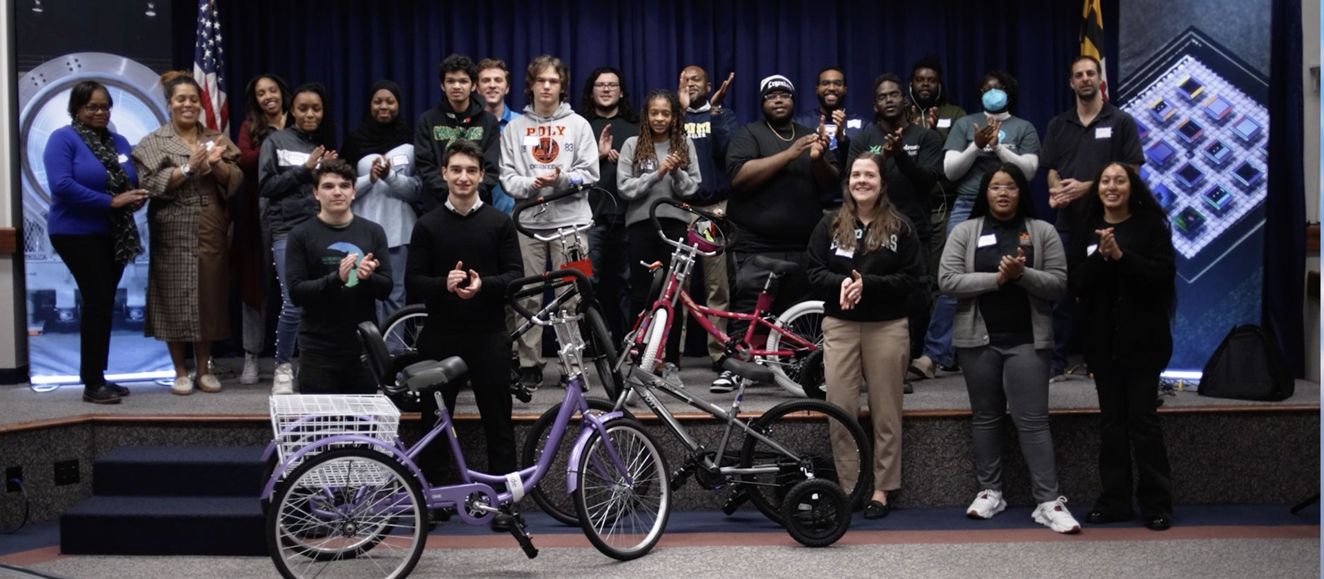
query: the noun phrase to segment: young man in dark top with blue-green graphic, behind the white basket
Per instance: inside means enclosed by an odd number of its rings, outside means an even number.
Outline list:
[[[372,394],[377,382],[363,364],[355,327],[377,321],[377,300],[391,295],[391,260],[381,226],[350,210],[354,168],[340,159],[312,172],[316,219],[287,237],[285,271],[299,320],[299,391]]]

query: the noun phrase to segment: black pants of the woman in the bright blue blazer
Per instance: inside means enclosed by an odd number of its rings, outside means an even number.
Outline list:
[[[106,360],[110,357],[110,316],[115,309],[115,287],[124,274],[124,266],[115,263],[115,242],[109,233],[52,234],[50,246],[64,259],[82,293],[78,375],[85,386],[101,386],[106,383]]]

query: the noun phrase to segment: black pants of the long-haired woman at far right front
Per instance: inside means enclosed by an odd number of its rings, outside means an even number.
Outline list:
[[[1131,455],[1136,456],[1139,484],[1135,498],[1140,514],[1172,514],[1172,469],[1158,424],[1158,373],[1135,371],[1107,364],[1090,365],[1099,391],[1099,480],[1103,494],[1095,509],[1113,518],[1129,518]]]

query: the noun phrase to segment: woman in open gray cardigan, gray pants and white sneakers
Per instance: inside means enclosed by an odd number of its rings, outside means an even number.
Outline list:
[[[952,345],[970,395],[982,489],[967,509],[970,518],[1006,509],[1001,427],[1010,408],[1038,502],[1034,521],[1058,533],[1080,531],[1058,496],[1049,432],[1053,300],[1066,284],[1062,241],[1034,218],[1025,173],[1012,164],[986,172],[970,218],[952,230],[939,267],[939,287],[957,300]]]

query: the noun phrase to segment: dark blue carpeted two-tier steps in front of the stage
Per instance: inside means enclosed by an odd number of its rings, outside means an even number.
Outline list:
[[[262,447],[120,447],[60,516],[66,555],[265,555]]]

